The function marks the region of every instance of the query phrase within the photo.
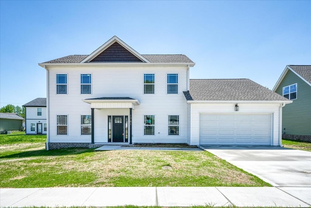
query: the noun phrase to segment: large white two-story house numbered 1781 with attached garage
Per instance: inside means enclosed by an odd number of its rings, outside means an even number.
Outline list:
[[[248,79],[190,80],[195,63],[186,55],[142,55],[116,36],[90,55],[39,65],[47,72],[49,149],[106,143],[280,145],[281,107],[291,102]]]

